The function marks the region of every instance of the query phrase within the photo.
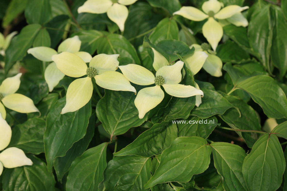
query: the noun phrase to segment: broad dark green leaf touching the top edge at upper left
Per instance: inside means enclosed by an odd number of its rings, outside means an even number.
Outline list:
[[[25,9],[28,24],[43,24],[51,19],[51,5],[49,0],[29,0]]]

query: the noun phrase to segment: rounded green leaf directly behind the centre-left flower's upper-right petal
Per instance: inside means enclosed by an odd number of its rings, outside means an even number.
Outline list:
[[[98,38],[96,43],[98,54],[120,54],[120,63],[141,63],[133,45],[119,34],[106,34]]]

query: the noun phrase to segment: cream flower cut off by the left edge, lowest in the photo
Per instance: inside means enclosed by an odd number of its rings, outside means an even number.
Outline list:
[[[3,119],[0,113],[0,151],[5,149],[12,136],[11,127]],[[33,162],[26,157],[24,151],[18,149],[17,147],[10,147],[5,149],[0,153],[0,175],[3,172],[3,167],[5,168],[16,168],[24,165],[33,165]]]

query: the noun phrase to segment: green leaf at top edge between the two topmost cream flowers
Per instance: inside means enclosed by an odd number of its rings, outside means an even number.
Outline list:
[[[170,15],[181,8],[179,0],[148,0],[148,3],[150,3],[152,7],[159,7],[164,9],[170,13]]]

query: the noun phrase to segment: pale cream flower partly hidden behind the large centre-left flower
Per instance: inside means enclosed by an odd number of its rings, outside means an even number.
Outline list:
[[[92,56],[88,52],[79,52],[81,47],[81,41],[79,36],[74,36],[72,38],[67,38],[58,47],[58,52],[53,48],[46,46],[38,46],[28,49],[28,54],[32,54],[38,60],[43,62],[52,62],[51,57],[54,54],[61,52],[71,52],[79,57],[81,57],[84,62],[88,63],[92,59]],[[63,74],[56,66],[55,62],[49,64],[45,70],[44,77],[49,86],[49,91],[53,91],[54,87],[57,86],[59,81],[63,79],[65,74]]]

